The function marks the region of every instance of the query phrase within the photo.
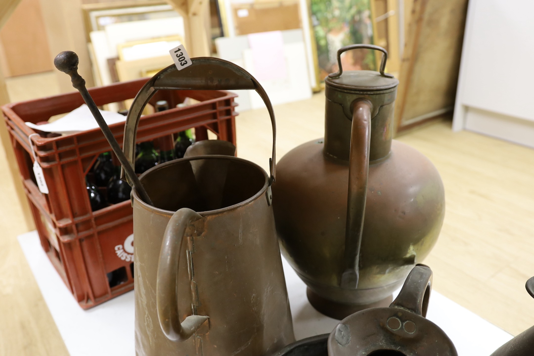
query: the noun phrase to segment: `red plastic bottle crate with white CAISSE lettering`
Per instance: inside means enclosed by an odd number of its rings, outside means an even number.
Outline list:
[[[135,97],[146,81],[116,83],[89,92],[98,106],[122,102]],[[200,102],[172,108],[186,97]],[[137,142],[195,128],[197,140],[207,139],[210,130],[218,139],[235,145],[235,97],[226,91],[160,90],[150,104],[167,100],[172,109],[143,116]],[[128,246],[124,248],[132,234],[130,201],[91,211],[85,176],[99,154],[111,151],[100,129],[54,138],[32,136],[33,151],[49,189],[49,194],[42,194],[32,170],[29,144],[29,136],[36,132],[25,124],[48,121],[82,104],[80,93],[73,92],[7,104],[2,111],[43,249],[80,306],[87,309],[133,289],[133,255]],[[109,127],[122,145],[124,123]],[[111,283],[108,273],[114,278]]]

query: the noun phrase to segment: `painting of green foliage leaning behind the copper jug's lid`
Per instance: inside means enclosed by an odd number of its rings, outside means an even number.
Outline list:
[[[373,43],[370,0],[310,0],[319,80],[337,72],[337,50],[354,43]],[[360,49],[342,54],[344,70],[376,69],[374,51]]]

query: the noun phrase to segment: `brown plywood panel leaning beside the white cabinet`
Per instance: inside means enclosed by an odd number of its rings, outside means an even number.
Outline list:
[[[395,107],[397,131],[452,111],[467,0],[415,0]]]

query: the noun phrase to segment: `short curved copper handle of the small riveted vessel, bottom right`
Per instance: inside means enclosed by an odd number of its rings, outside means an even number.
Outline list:
[[[417,264],[408,274],[399,295],[389,306],[407,309],[426,317],[431,290],[432,270],[426,265]]]

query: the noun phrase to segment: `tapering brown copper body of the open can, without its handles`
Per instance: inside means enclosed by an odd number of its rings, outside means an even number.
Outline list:
[[[222,208],[210,210],[215,205],[204,199],[206,180],[199,179],[202,172],[193,169],[195,163],[226,168]],[[237,157],[196,156],[157,166],[140,180],[155,207],[133,193],[137,355],[269,355],[292,342],[266,173]],[[189,339],[177,342],[160,328],[156,291],[164,232],[184,207],[201,218],[187,224],[179,250],[177,317],[209,319]]]

